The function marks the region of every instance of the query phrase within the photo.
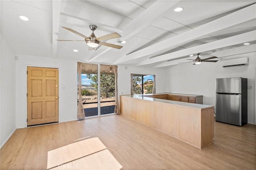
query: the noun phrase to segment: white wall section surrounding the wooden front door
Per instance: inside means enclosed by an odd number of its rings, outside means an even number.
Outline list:
[[[77,119],[77,62],[48,57],[18,56],[16,60],[16,125],[26,127],[27,66],[59,68],[59,122]]]

